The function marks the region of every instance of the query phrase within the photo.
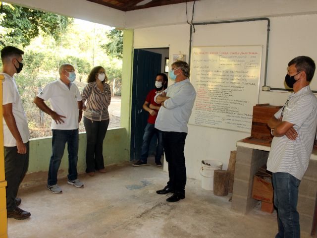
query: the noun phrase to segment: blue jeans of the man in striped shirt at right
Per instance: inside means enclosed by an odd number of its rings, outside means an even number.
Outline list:
[[[299,214],[296,210],[301,180],[288,173],[273,173],[274,205],[277,208],[278,234],[275,238],[300,238]]]

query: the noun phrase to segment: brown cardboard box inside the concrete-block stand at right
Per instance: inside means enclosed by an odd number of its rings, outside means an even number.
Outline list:
[[[267,203],[273,203],[273,186],[271,178],[255,175],[253,179],[252,198]]]

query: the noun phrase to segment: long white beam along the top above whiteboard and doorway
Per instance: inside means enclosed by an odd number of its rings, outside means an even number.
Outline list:
[[[192,19],[193,1],[187,3]],[[199,0],[193,22],[317,13],[316,0]],[[186,4],[179,3],[127,11],[126,28],[143,28],[186,23]]]

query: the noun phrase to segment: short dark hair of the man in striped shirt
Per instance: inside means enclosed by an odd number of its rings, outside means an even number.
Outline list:
[[[313,79],[316,65],[312,58],[308,56],[298,56],[293,60],[289,61],[288,66],[291,66],[292,64],[295,64],[297,72],[305,71],[306,80],[308,82],[310,82]]]

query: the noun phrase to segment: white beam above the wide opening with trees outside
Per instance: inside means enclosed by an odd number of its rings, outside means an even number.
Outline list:
[[[124,27],[125,25],[125,13],[123,11],[87,0],[8,0],[5,2],[107,26]]]

